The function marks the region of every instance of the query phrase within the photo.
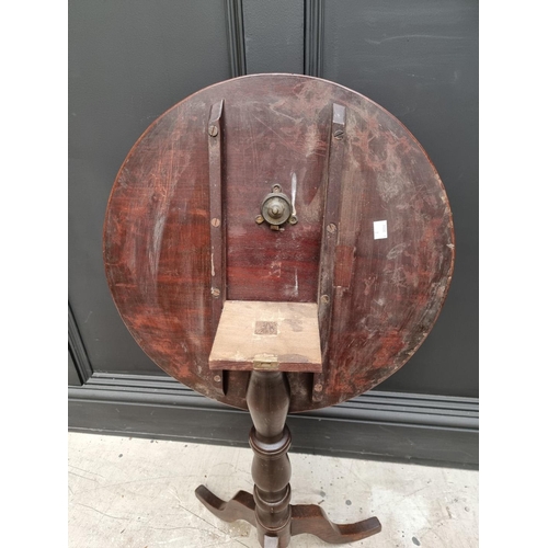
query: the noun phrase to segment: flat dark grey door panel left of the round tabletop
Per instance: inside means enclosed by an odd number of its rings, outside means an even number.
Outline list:
[[[160,114],[230,77],[222,0],[69,2],[69,300],[94,372],[164,375],[123,324],[102,260],[106,202]]]

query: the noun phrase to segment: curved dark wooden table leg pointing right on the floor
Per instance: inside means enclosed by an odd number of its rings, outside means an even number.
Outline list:
[[[370,537],[380,533],[380,522],[376,517],[352,524],[336,524],[316,504],[292,505],[292,536],[308,533],[324,543],[340,545]]]

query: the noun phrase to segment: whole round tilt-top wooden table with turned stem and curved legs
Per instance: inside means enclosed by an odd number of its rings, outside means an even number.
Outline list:
[[[454,259],[445,190],[409,130],[296,75],[236,78],[165,112],[124,161],[104,225],[109,286],[137,343],[251,413],[253,494],[196,494],[264,547],[380,530],[290,504],[285,420],[397,372],[432,330]]]

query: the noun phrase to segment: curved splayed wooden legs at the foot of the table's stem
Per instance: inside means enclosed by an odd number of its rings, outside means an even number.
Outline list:
[[[204,506],[219,520],[224,522],[244,520],[256,527],[255,501],[251,493],[238,491],[227,502],[216,496],[205,486],[199,486],[195,493]],[[336,524],[331,522],[323,510],[316,504],[290,504],[289,533],[290,537],[308,533],[321,538],[324,543],[338,545],[362,540],[380,533],[380,522],[376,517],[369,517],[353,524]],[[271,535],[263,535],[259,541],[265,548],[288,546],[288,543],[283,544],[282,538]]]

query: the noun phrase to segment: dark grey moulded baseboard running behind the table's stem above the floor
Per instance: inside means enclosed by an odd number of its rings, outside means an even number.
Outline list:
[[[164,376],[94,373],[69,387],[69,430],[248,446],[249,413]],[[292,450],[459,468],[478,467],[475,398],[369,391],[287,419]]]

